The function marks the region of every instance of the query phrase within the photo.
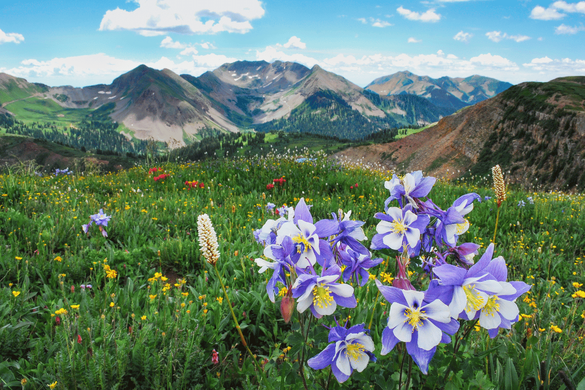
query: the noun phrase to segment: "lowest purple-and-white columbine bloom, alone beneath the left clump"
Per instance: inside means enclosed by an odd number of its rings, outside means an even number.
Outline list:
[[[364,323],[349,329],[332,327],[329,331],[329,343],[332,344],[307,360],[308,366],[314,370],[323,370],[331,365],[331,371],[339,383],[345,382],[353,370],[362,372],[370,361],[376,361],[374,342],[365,327]]]

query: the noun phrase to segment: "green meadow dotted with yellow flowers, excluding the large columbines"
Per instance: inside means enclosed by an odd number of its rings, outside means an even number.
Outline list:
[[[350,325],[364,323],[377,361],[342,384],[329,369],[309,368],[307,359],[324,348],[328,329],[311,325],[297,310],[285,322],[285,292],[270,301],[270,274],[260,274],[254,263],[263,246],[253,232],[277,218],[274,210],[304,198],[315,219],[352,210],[351,219],[365,221],[369,247],[391,174],[319,154],[300,163],[298,157],[156,164],[116,174],[6,171],[0,176],[0,387],[585,385],[583,196],[510,189],[500,208],[494,257],[505,258],[508,279],[532,285],[516,302],[520,316],[511,330],[490,339],[479,326],[462,327],[450,343],[439,344],[428,375],[407,367],[401,344],[380,356],[390,305],[375,279],[390,285],[396,270],[393,258],[376,254],[383,262],[356,288],[358,309],[338,308],[336,320],[342,326],[348,319]],[[439,179],[429,198],[446,207],[468,192],[481,196],[460,237],[479,244],[481,256],[493,240],[497,207],[491,178],[475,182],[487,184]],[[204,213],[218,237],[217,273],[199,247],[197,219]],[[332,318],[326,323],[336,326]],[[303,338],[297,330],[305,326],[314,330]]]

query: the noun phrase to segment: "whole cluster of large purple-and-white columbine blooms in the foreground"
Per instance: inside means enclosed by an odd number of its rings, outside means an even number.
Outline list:
[[[423,177],[421,171],[393,175],[386,181],[390,196],[384,212],[374,215],[380,222],[370,245],[371,250],[395,257],[397,269],[394,278],[384,272],[388,277],[383,280],[391,281],[391,286],[376,280],[390,304],[380,353],[387,354],[404,342],[423,374],[428,372],[438,344],[449,343],[450,335],[457,332],[460,319],[477,320],[495,337],[500,328],[511,329],[518,321],[515,301],[530,289],[524,282],[507,281],[504,258],[493,258],[493,244],[474,262],[480,246],[459,243],[459,237],[469,229],[467,214],[481,197],[475,193],[460,196],[443,210],[428,198],[435,181]],[[394,201],[397,206],[391,206]],[[337,215],[332,213],[332,219],[315,221],[309,207],[301,198],[294,209],[288,209],[286,218],[276,212],[280,218],[267,220],[254,232],[257,242],[264,245],[264,258],[256,258],[255,263],[259,272],[273,271],[267,294],[272,302],[275,295],[283,296],[280,309],[287,322],[295,303],[299,313],[311,310],[318,319],[333,315],[338,306],[355,308],[353,286],[366,285],[369,269],[382,262],[360,243],[367,238],[364,222],[351,220],[351,212],[339,210]],[[409,267],[416,268],[411,271]],[[420,278],[422,274],[429,278]],[[345,283],[349,281],[351,284]],[[343,382],[354,369],[362,371],[375,360],[363,324],[330,330],[331,344],[309,359],[309,367],[319,370],[331,365],[335,377]]]

